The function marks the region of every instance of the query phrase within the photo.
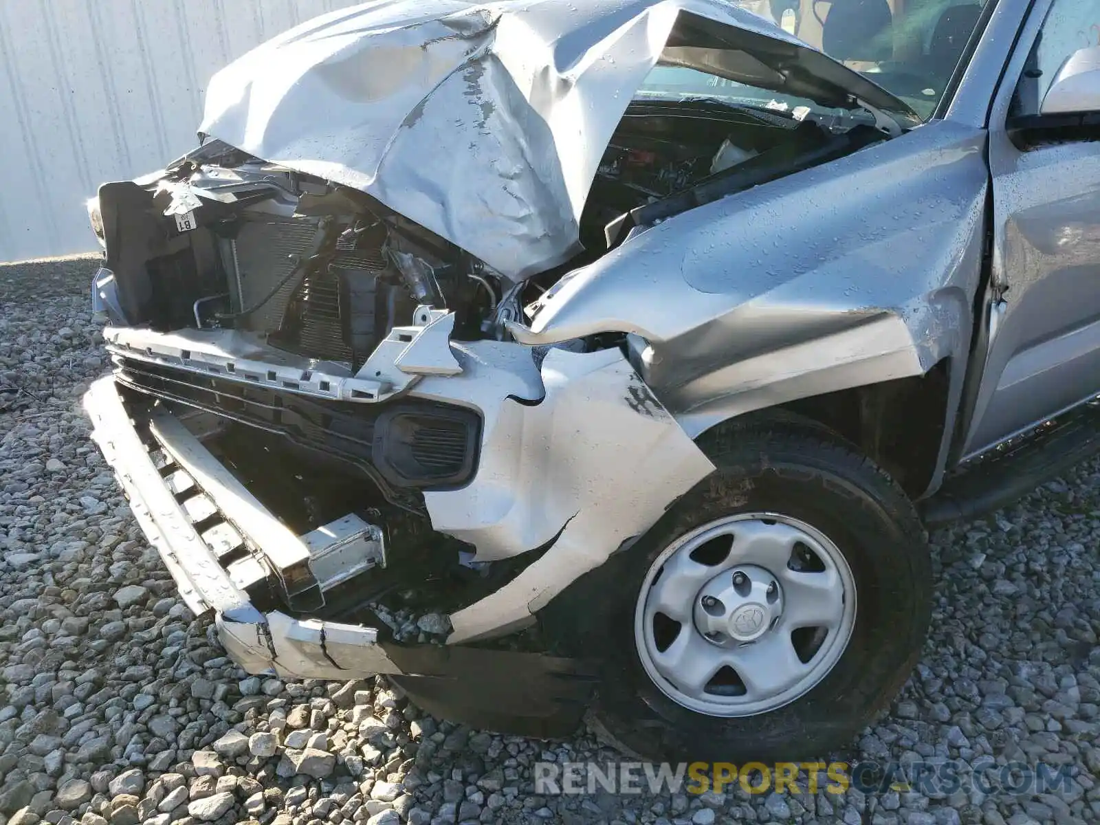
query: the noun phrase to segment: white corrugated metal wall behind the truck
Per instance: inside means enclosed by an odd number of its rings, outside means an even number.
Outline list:
[[[96,249],[105,180],[197,145],[207,81],[359,0],[0,0],[0,261]]]

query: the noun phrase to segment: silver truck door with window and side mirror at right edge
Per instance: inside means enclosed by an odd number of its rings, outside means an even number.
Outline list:
[[[1078,70],[1100,66],[1100,4],[1031,13],[990,114],[989,345],[964,457],[1100,393],[1100,89]],[[1066,111],[1047,94],[1075,72]]]

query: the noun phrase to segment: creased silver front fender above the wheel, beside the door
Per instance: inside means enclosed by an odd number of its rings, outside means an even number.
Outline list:
[[[963,364],[985,141],[937,121],[679,215],[575,273],[518,332],[641,337],[642,377],[690,432],[945,358]]]

